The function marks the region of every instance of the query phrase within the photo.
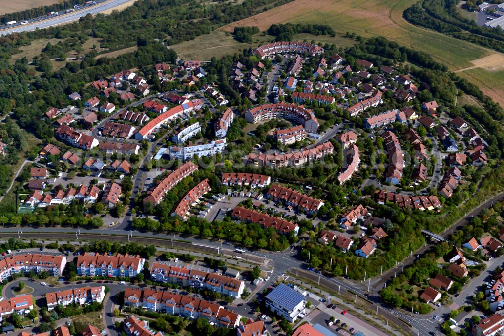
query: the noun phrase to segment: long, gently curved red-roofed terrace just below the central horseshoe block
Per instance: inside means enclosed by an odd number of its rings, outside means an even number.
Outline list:
[[[333,152],[333,144],[327,141],[310,149],[290,151],[283,154],[250,153],[244,161],[246,164],[251,164],[255,167],[270,167],[273,169],[287,166],[298,167],[311,164],[316,160],[321,160],[324,156],[332,154]]]

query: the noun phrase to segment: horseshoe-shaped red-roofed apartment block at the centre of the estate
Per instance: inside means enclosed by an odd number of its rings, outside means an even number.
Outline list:
[[[251,108],[245,112],[245,120],[257,124],[263,120],[273,118],[289,119],[302,125],[306,131],[317,133],[319,122],[311,111],[296,104],[275,103],[264,104]]]

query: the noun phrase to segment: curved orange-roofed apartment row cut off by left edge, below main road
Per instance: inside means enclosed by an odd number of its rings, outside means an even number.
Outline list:
[[[51,276],[59,276],[67,264],[67,257],[41,254],[7,255],[0,260],[0,281],[6,280],[11,274],[29,273],[36,274],[47,271]]]

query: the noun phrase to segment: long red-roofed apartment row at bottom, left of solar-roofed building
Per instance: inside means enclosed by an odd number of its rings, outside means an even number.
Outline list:
[[[218,304],[167,291],[126,289],[124,291],[124,305],[191,319],[203,317],[218,326],[229,328],[238,326],[241,319],[240,315]]]

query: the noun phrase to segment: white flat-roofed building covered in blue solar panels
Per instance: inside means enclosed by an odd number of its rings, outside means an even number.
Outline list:
[[[266,296],[265,303],[273,313],[283,316],[289,322],[296,321],[306,311],[304,296],[284,284],[275,287]]]

